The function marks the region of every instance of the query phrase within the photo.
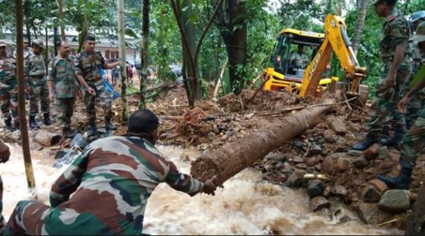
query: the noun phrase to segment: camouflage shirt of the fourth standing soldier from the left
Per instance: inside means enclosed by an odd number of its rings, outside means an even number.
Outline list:
[[[83,50],[78,56],[77,76],[83,76],[90,85],[102,80],[100,69],[106,69],[106,62],[102,53],[95,51],[92,55]]]

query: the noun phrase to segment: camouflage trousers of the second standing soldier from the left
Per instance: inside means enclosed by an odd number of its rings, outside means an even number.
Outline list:
[[[41,112],[50,113],[49,90],[45,78],[30,78],[29,86],[32,89],[29,99],[29,116],[39,114],[39,103],[41,102]]]

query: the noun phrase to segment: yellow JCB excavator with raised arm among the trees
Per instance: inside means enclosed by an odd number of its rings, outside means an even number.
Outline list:
[[[264,90],[286,88],[289,92],[299,93],[302,98],[321,95],[330,83],[340,80],[337,77],[326,78],[326,70],[330,69],[330,57],[335,53],[346,74],[347,95],[360,95],[360,100],[365,103],[369,88],[367,85],[360,85],[360,81],[365,78],[366,69],[358,64],[344,20],[336,15],[328,15],[324,27],[325,34],[296,29],[283,29],[279,33],[270,66],[264,70]],[[304,58],[311,60],[305,66],[295,60],[295,53],[302,54],[296,51],[297,46],[298,50],[307,48],[307,52],[303,52]]]

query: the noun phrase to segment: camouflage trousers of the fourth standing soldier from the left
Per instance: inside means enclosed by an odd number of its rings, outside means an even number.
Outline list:
[[[90,87],[92,87],[96,91],[96,96],[90,95],[90,93],[87,90],[84,91],[84,103],[85,103],[85,109],[88,114],[89,123],[90,124],[96,123],[96,102],[99,102],[100,106],[102,106],[102,109],[104,110],[105,119],[111,120],[112,100],[111,100],[111,96],[106,91],[105,86],[90,85]]]

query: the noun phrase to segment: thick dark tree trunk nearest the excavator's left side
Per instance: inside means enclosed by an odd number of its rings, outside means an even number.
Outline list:
[[[229,80],[232,92],[239,94],[245,83],[243,68],[246,64],[246,9],[244,1],[228,0],[228,25],[222,31],[229,58]]]

